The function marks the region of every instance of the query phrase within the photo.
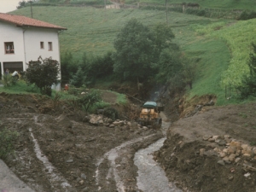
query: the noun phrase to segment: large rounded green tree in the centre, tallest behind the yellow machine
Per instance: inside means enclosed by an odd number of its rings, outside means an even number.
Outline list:
[[[154,35],[148,26],[131,19],[115,38],[113,72],[124,79],[144,79],[150,76],[154,56]]]

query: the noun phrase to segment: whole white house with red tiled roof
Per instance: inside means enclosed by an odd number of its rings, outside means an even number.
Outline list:
[[[39,56],[61,63],[59,32],[62,30],[67,28],[26,16],[0,13],[1,73],[6,69],[26,71],[26,63],[38,61]]]

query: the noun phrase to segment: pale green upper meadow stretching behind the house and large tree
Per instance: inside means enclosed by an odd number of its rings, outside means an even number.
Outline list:
[[[14,14],[30,16],[30,8],[18,9]],[[76,58],[87,55],[103,55],[113,50],[113,39],[120,28],[132,17],[152,26],[166,22],[166,13],[158,10],[139,9],[94,9],[73,7],[34,7],[33,18],[67,27],[61,32],[61,53],[70,51]],[[173,27],[195,23],[210,23],[209,19],[194,15],[169,14]]]

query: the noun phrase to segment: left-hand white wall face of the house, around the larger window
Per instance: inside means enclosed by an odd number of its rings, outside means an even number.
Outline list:
[[[15,53],[5,54],[4,42],[14,42]],[[0,62],[3,72],[3,62],[25,62],[23,30],[15,25],[0,21]]]

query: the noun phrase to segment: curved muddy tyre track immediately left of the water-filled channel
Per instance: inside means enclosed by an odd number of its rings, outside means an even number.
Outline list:
[[[137,166],[133,163],[134,154],[139,148],[146,148],[161,137],[163,137],[161,132],[139,137],[122,143],[104,154],[96,163],[95,177],[98,191],[110,192],[113,188],[119,192],[136,190]]]

